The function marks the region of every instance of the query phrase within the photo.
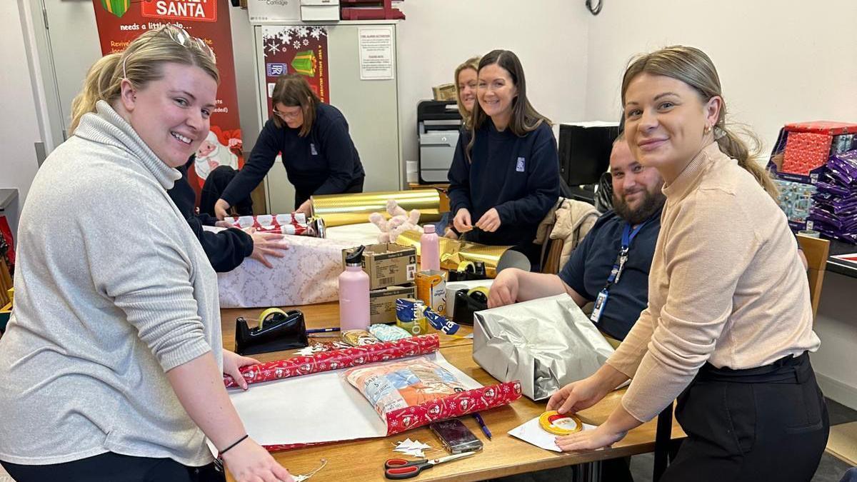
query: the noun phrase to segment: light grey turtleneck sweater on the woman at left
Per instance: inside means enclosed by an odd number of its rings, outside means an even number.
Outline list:
[[[166,194],[179,178],[104,101],[39,170],[0,340],[0,460],[212,460],[166,371],[222,365],[217,276]]]

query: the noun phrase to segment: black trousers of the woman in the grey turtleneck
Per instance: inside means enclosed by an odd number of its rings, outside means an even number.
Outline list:
[[[108,452],[52,465],[18,465],[0,461],[15,482],[224,482],[213,463],[186,467],[172,459],[132,457]]]

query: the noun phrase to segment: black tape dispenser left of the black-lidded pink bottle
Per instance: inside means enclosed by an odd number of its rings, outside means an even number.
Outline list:
[[[285,312],[268,308],[259,316],[259,326],[248,328],[247,320],[235,320],[235,352],[239,355],[279,352],[309,345],[307,325],[300,310]]]

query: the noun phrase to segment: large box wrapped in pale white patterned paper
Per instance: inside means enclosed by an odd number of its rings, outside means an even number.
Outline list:
[[[273,268],[245,258],[238,268],[218,274],[221,308],[294,306],[339,298],[342,250],[348,242],[309,236],[285,236],[285,256],[267,259]]]

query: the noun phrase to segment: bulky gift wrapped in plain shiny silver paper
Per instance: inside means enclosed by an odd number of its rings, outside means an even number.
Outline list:
[[[589,377],[614,352],[567,294],[477,311],[473,317],[473,359],[502,382],[520,380],[524,395],[534,401]]]

